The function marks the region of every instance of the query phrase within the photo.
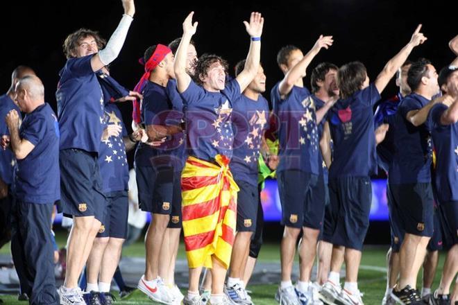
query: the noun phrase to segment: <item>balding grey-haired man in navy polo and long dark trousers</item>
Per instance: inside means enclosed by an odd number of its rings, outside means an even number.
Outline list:
[[[11,252],[23,293],[30,304],[59,304],[54,279],[51,212],[60,199],[59,128],[56,114],[44,103],[44,87],[37,76],[21,78],[15,102],[26,113],[19,128],[19,113],[5,117],[9,143],[17,159],[11,208]]]

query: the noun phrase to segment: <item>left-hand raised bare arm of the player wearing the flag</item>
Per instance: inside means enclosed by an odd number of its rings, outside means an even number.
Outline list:
[[[173,70],[175,71],[176,83],[178,92],[185,92],[189,83],[191,82],[191,76],[186,72],[186,56],[187,47],[191,41],[192,35],[196,33],[198,22],[192,24],[192,16],[194,12],[190,12],[187,15],[185,21],[183,21],[183,36],[181,37],[180,45],[176,50],[175,63],[173,64]]]

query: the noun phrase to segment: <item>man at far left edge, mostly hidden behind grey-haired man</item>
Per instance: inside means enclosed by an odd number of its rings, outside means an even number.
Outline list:
[[[19,112],[19,107],[13,102],[16,94],[16,84],[19,78],[35,75],[29,67],[18,66],[11,74],[11,86],[6,94],[0,96],[0,137],[10,135],[3,118],[15,109]],[[16,159],[10,150],[0,150],[0,247],[10,240],[10,221],[9,214],[11,209],[10,185],[12,182],[12,169],[16,164]]]

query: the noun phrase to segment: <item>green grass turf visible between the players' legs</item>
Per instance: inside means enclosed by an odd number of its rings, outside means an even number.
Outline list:
[[[56,234],[57,242],[59,247],[65,245],[66,236],[65,232],[58,232]],[[262,250],[260,252],[260,261],[276,261],[280,263],[280,251],[279,251],[280,243],[266,243],[263,245]],[[362,257],[362,268],[359,270],[359,290],[364,293],[363,302],[364,304],[380,304],[382,301],[382,297],[385,291],[386,285],[386,277],[384,272],[380,272],[378,270],[371,270],[371,267],[385,267],[385,254],[387,251],[387,246],[385,247],[366,247],[363,252]],[[1,250],[0,253],[9,253],[9,245],[5,245]],[[144,244],[142,241],[138,241],[137,243],[125,248],[123,250],[124,256],[140,256],[144,257]],[[433,288],[436,288],[439,285],[439,280],[441,277],[442,266],[443,266],[443,259],[445,254],[441,252],[439,255],[439,265],[436,272],[436,277],[434,279]],[[183,244],[180,245],[180,250],[178,252],[178,259],[185,259],[185,252],[183,248]],[[296,259],[297,260],[297,259]],[[368,267],[366,267],[368,266]],[[418,288],[421,288],[421,277],[418,277]],[[279,279],[280,280],[280,279]],[[273,299],[273,295],[275,295],[275,291],[277,290],[278,285],[251,285],[248,289],[252,290],[252,298],[253,302],[256,305],[275,305],[278,304]],[[183,290],[185,293],[185,290]],[[117,295],[114,293],[114,295]],[[27,304],[26,302],[17,302],[17,296],[12,295],[1,295],[0,299],[3,299],[5,304]],[[118,300],[116,304],[151,304],[152,302],[146,298],[142,293],[136,291],[133,295],[126,300]]]

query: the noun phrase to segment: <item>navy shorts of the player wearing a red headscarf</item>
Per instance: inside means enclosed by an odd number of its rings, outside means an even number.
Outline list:
[[[137,166],[138,202],[142,211],[171,214],[173,200],[173,168],[169,166]]]

